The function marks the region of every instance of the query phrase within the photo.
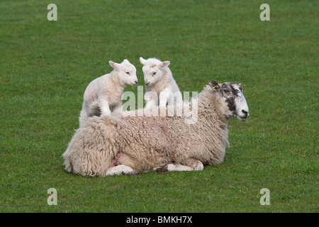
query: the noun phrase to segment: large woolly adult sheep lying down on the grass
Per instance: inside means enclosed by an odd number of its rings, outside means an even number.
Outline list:
[[[90,118],[62,155],[65,169],[105,176],[157,169],[203,170],[203,165],[220,164],[228,144],[228,120],[245,121],[248,106],[241,84],[211,81],[209,85],[196,98],[198,121],[194,124],[186,124],[184,116],[138,116],[139,110],[136,116],[118,113]]]

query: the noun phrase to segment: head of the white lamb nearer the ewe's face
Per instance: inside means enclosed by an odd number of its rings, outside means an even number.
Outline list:
[[[162,79],[166,68],[169,66],[169,61],[161,62],[156,58],[149,58],[147,60],[140,57],[140,62],[143,65],[144,81],[146,86],[151,86]]]

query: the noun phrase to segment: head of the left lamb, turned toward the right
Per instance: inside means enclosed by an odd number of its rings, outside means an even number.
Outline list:
[[[118,79],[125,84],[137,85],[138,77],[136,77],[135,66],[130,64],[128,60],[123,60],[121,64],[109,61],[111,67],[118,72]]]

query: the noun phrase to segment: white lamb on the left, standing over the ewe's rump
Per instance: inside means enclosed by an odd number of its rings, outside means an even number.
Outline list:
[[[109,61],[113,71],[94,79],[86,87],[79,126],[91,116],[110,116],[111,111],[121,111],[122,94],[127,84],[138,84],[136,69],[128,60],[121,64]]]

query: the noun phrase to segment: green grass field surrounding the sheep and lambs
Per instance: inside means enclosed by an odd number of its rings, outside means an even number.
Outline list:
[[[57,21],[47,21],[50,3]],[[259,19],[263,3],[270,21]],[[310,0],[1,1],[0,212],[318,212],[318,9]],[[65,172],[84,89],[125,58],[143,85],[141,56],[170,60],[181,92],[242,83],[250,118],[230,120],[223,164]]]

